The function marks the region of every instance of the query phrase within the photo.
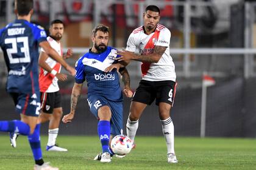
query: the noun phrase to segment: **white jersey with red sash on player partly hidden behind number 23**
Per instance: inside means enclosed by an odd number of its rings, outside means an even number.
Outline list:
[[[48,36],[47,40],[51,45],[51,47],[57,53],[59,53],[60,56],[62,56],[62,47],[60,46],[60,43],[55,41],[53,38],[51,38],[51,36]],[[41,52],[44,52],[44,50],[41,49]],[[47,58],[46,63],[52,69],[56,70],[58,73],[62,68],[60,63],[57,63],[55,60],[53,60],[50,57]],[[57,77],[54,77],[54,75],[52,75],[51,73],[47,72],[42,68],[40,68],[40,73],[39,73],[39,87],[40,87],[40,92],[52,93],[60,90]]]

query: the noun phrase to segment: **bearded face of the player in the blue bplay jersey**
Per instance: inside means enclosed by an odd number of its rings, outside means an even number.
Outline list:
[[[93,36],[94,47],[99,53],[104,52],[105,49],[107,49],[108,38],[108,32],[102,31],[96,32],[95,36]]]

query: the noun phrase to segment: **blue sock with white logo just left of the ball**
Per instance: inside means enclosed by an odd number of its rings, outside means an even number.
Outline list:
[[[101,140],[102,153],[109,152],[110,121],[102,120],[98,123],[98,135]]]

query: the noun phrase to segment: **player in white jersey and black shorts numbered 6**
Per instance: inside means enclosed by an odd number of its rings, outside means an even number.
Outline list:
[[[138,120],[154,100],[158,106],[163,135],[167,145],[169,163],[177,163],[174,152],[174,125],[170,110],[176,93],[175,66],[169,53],[171,32],[158,24],[160,10],[155,5],[146,7],[143,13],[144,25],[133,30],[124,51],[118,51],[118,61],[141,61],[142,80],[132,99],[127,120],[127,135],[134,141]],[[138,49],[140,54],[135,54]]]

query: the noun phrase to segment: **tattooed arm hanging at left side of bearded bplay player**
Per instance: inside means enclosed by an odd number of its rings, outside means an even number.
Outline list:
[[[71,120],[73,120],[74,114],[76,112],[77,101],[81,94],[82,86],[82,83],[74,83],[70,101],[70,112],[62,118],[63,123],[69,123],[71,122]]]

